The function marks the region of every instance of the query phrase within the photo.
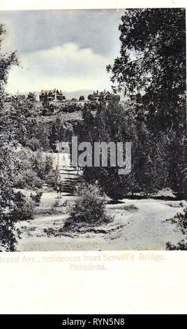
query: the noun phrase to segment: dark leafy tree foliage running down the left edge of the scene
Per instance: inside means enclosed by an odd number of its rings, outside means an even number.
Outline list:
[[[0,36],[5,32],[0,25]],[[0,50],[1,50],[0,38]],[[6,117],[3,100],[4,90],[10,67],[17,64],[15,52],[0,54],[0,251],[15,251],[15,223],[33,216],[33,209],[20,192],[13,189],[13,149],[17,144],[15,130],[11,127],[11,118]],[[17,235],[19,232],[17,231]]]

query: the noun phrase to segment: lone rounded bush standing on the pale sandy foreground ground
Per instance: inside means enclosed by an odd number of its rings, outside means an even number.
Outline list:
[[[100,225],[111,220],[106,214],[98,186],[83,183],[77,188],[75,204],[70,206],[69,218],[63,228],[76,228],[79,224]]]

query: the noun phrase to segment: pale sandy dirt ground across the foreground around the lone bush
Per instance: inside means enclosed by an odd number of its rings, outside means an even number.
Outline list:
[[[43,207],[49,207],[56,198],[56,193],[45,193]],[[63,195],[60,204],[65,200],[73,197]],[[174,232],[170,221],[163,223],[182,209],[174,201],[123,200],[120,204],[107,204],[108,213],[114,216],[113,223],[100,226],[97,232],[62,235],[59,229],[68,215],[67,207],[61,207],[61,214],[39,215],[33,221],[17,223],[22,232],[17,251],[165,250],[167,241],[175,244],[184,238],[180,232]],[[49,229],[51,235],[47,233]]]

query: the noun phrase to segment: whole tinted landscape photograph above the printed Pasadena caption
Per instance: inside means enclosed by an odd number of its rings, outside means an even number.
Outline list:
[[[0,10],[0,251],[185,250],[186,9]]]

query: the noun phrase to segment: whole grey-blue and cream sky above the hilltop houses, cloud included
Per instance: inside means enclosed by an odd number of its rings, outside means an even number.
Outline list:
[[[17,50],[10,93],[49,90],[110,90],[106,65],[119,55],[124,10],[6,10],[5,52]]]

